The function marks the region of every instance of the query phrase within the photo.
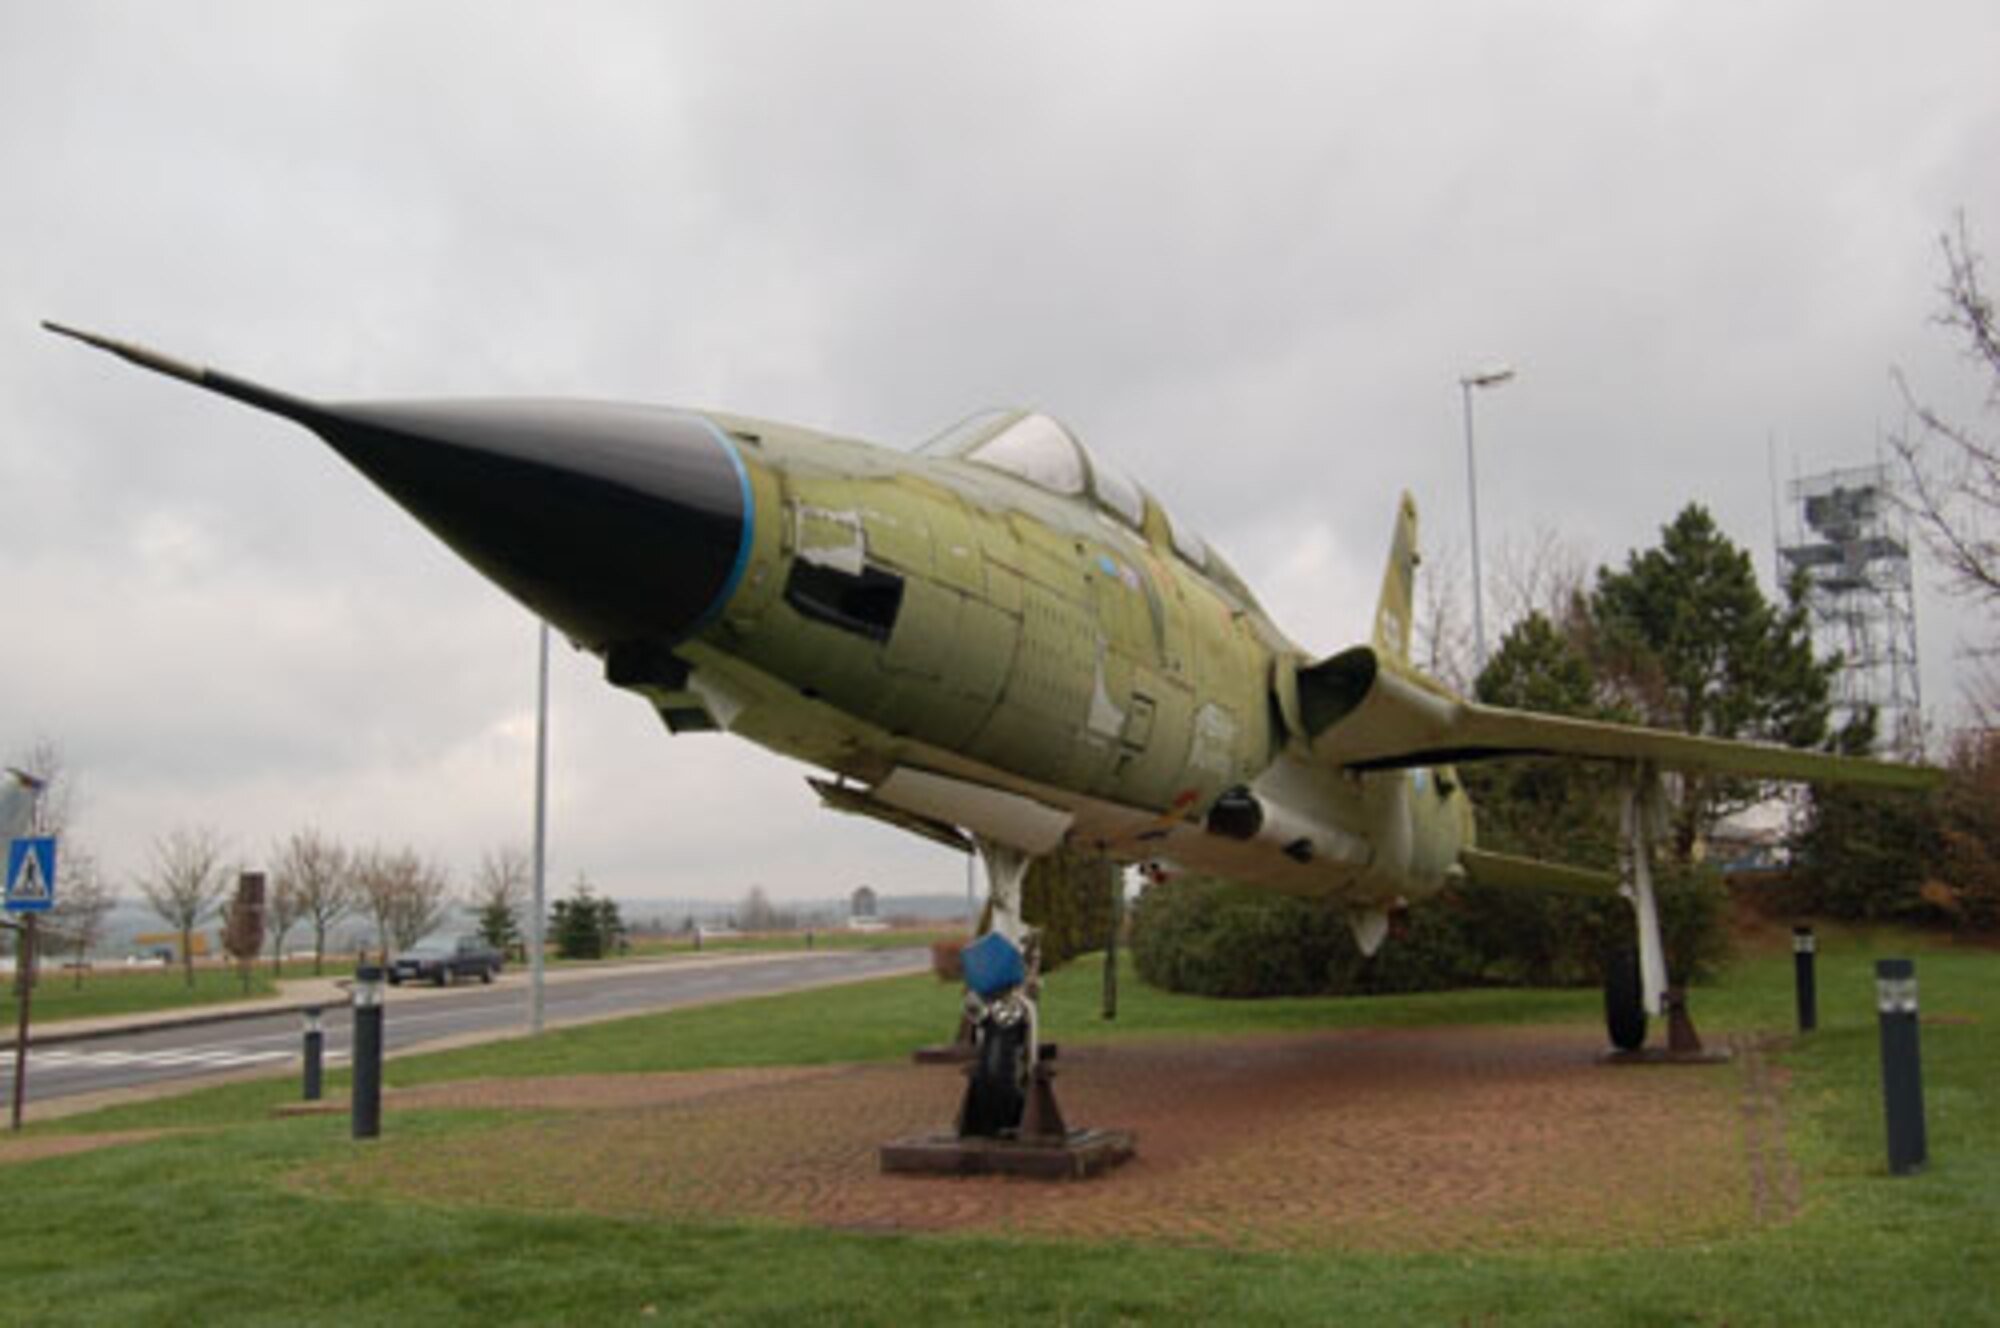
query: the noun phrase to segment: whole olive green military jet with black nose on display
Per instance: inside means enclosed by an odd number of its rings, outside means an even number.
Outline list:
[[[670,732],[748,738],[828,772],[812,784],[836,810],[970,840],[992,894],[992,962],[966,996],[974,1132],[1020,1120],[1040,1046],[1020,886],[1062,844],[1326,900],[1366,952],[1392,908],[1458,878],[1620,888],[1638,982],[1612,1028],[1636,1046],[1666,990],[1658,770],[1934,778],[1452,694],[1410,664],[1408,496],[1372,640],[1310,658],[1186,522],[1046,414],[976,414],[900,452],[714,410],[318,402],[44,326],[306,426]],[[1478,848],[1454,766],[1516,754],[1622,772],[1622,882]]]

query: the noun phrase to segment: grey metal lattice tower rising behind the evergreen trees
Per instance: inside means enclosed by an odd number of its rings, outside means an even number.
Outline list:
[[[1888,466],[1850,466],[1792,480],[1780,568],[1804,574],[1812,644],[1840,656],[1834,724],[1874,708],[1876,750],[1922,758],[1916,590],[1910,532]]]

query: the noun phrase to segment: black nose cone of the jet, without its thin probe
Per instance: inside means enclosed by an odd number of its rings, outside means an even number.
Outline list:
[[[682,640],[734,592],[750,480],[686,410],[352,402],[302,420],[502,590],[576,642]]]

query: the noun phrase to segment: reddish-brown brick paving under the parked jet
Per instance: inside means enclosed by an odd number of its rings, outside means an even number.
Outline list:
[[[380,1150],[300,1176],[346,1192],[858,1230],[1240,1248],[1632,1246],[1786,1220],[1780,1084],[1606,1068],[1588,1028],[1344,1030],[1064,1048],[1072,1124],[1138,1132],[1090,1182],[884,1176],[950,1122],[942,1066],[494,1080],[398,1092]],[[408,1110],[524,1112],[398,1142]]]

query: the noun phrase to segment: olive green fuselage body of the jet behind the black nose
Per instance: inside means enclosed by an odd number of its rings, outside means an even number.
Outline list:
[[[676,730],[858,788],[920,770],[1000,790],[1122,860],[1356,906],[1430,894],[1470,838],[1452,780],[1342,774],[1294,740],[1300,652],[1218,560],[1176,554],[1158,504],[1134,528],[976,462],[708,418],[754,518],[738,584],[676,646],[688,676],[634,686]],[[1228,790],[1298,834],[1214,834]]]

